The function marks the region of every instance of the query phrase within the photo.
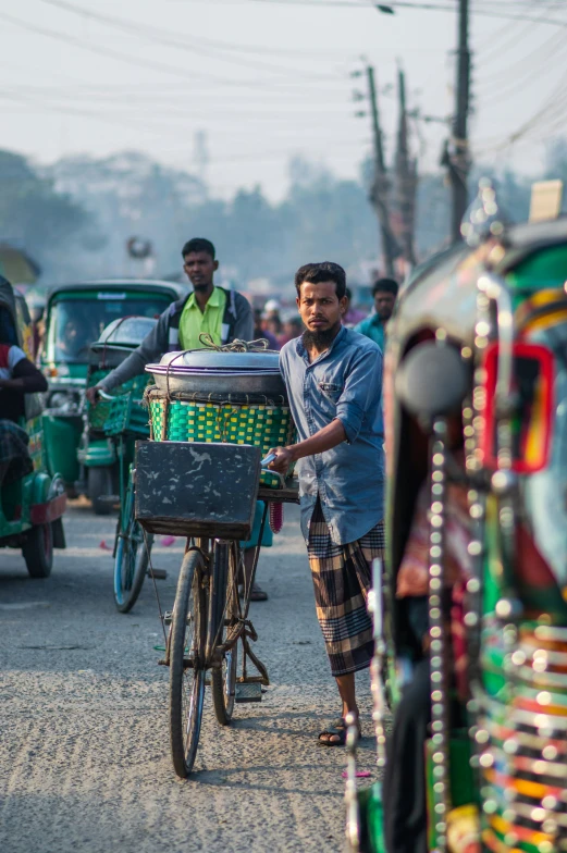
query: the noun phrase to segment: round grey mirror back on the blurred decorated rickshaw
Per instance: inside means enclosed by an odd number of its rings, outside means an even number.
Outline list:
[[[469,384],[458,350],[433,341],[414,347],[395,379],[396,394],[406,409],[428,421],[458,411]]]

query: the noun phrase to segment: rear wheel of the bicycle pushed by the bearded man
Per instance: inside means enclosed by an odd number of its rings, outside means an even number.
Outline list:
[[[227,552],[227,560],[223,559],[220,549]],[[237,573],[238,565],[242,559],[242,551],[238,544],[233,543],[232,546],[221,545],[215,548],[214,561],[215,569],[212,572],[212,578],[217,579],[220,590],[215,594],[212,590],[211,594],[211,614],[217,609],[217,621],[214,623],[214,633],[218,633],[217,645],[223,644],[226,641],[226,635],[230,632],[231,621],[236,621],[238,618],[238,588],[237,588]],[[221,569],[221,564],[224,564],[224,571]],[[214,606],[217,599],[217,605]],[[227,601],[226,601],[227,599]],[[226,602],[226,608],[225,608]],[[219,621],[222,619],[223,626],[219,631]],[[209,629],[211,628],[209,621]],[[227,630],[229,629],[229,630]],[[211,670],[211,692],[212,704],[214,706],[214,714],[221,726],[229,726],[232,720],[234,712],[234,696],[236,692],[236,671],[238,668],[238,643],[236,642],[232,648],[225,652],[222,656],[222,664],[220,669]]]

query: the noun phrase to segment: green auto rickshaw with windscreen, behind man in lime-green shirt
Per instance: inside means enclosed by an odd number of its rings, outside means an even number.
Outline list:
[[[49,382],[44,429],[49,470],[61,473],[70,496],[87,493],[86,469],[111,465],[106,443],[82,445],[90,345],[113,320],[157,318],[186,294],[182,284],[132,279],[66,284],[49,293],[39,359]]]

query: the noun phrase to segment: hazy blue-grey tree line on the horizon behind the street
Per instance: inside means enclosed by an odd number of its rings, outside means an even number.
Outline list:
[[[0,150],[0,243],[24,248],[49,283],[128,273],[125,245],[133,235],[152,242],[158,276],[178,271],[180,246],[188,236],[200,235],[218,245],[241,286],[257,277],[288,282],[306,259],[324,258],[343,263],[356,280],[363,264],[375,265],[379,255],[368,174],[368,164],[362,164],[359,180],[343,180],[295,158],[281,201],[270,201],[260,186],[221,199],[198,176],[139,152],[99,160],[64,158],[40,168],[20,153]],[[507,219],[525,220],[533,180],[559,177],[567,183],[567,140],[550,143],[538,175],[495,173],[490,165],[477,165],[471,195],[481,175],[495,181]],[[421,175],[418,257],[446,245],[448,220],[443,174]]]

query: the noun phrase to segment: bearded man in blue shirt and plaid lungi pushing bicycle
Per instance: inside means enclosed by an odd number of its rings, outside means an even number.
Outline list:
[[[384,548],[382,353],[342,325],[345,271],[308,263],[295,276],[306,331],[280,354],[298,443],[276,447],[270,467],[297,466],[301,530],[307,543],[317,616],[342,700],[338,720],[319,734],[344,746],[345,717],[358,718],[355,672],[370,666],[372,621],[367,610],[371,563]]]

